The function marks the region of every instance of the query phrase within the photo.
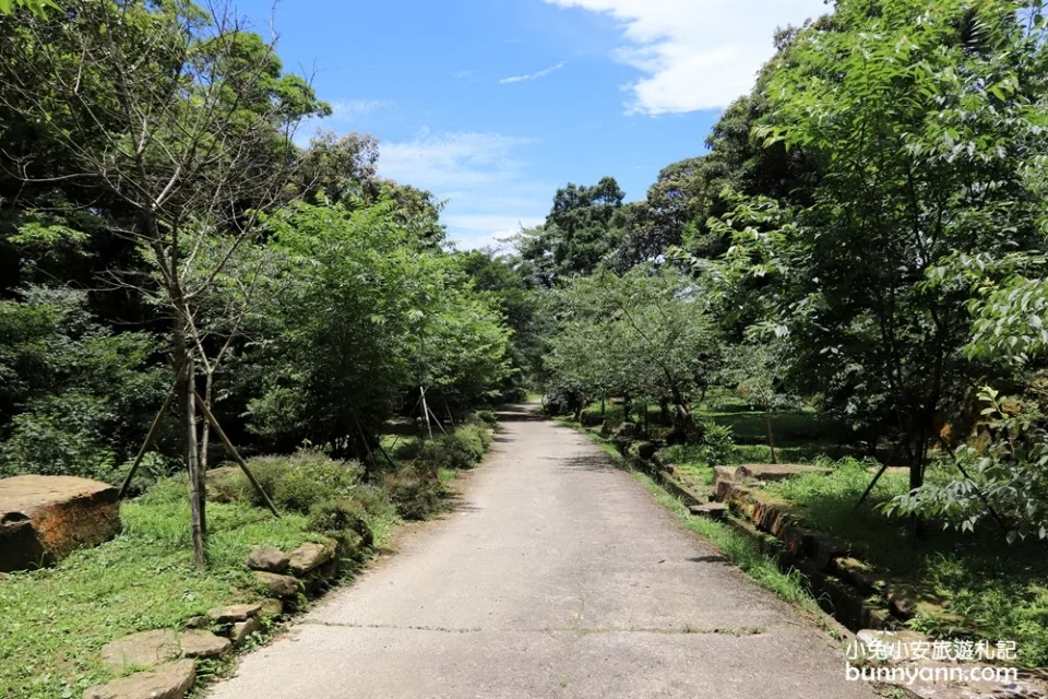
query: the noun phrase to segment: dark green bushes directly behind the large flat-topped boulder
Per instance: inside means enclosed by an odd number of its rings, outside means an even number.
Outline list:
[[[115,479],[166,390],[156,350],[145,333],[98,324],[80,292],[0,301],[0,476]]]

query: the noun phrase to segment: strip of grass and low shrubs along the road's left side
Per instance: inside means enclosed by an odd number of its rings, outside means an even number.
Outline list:
[[[182,629],[213,607],[262,602],[265,591],[245,567],[259,545],[287,552],[334,540],[340,574],[352,579],[383,550],[400,522],[442,511],[450,478],[476,465],[490,440],[490,427],[479,419],[434,441],[408,437],[394,457],[396,467],[372,481],[360,463],[318,451],[252,459],[252,472],[281,518],[235,466],[216,469],[210,476],[205,570],[193,564],[184,525],[186,477],[157,482],[123,505],[123,531],[115,540],[78,550],[53,568],[0,581],[0,696],[80,697],[112,676],[98,652],[107,642],[135,631]],[[306,605],[300,593],[298,607]],[[252,645],[278,620],[266,619]],[[211,662],[200,674],[206,679],[226,668]]]

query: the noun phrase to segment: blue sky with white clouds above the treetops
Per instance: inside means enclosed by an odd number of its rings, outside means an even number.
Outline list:
[[[272,0],[238,0],[270,35]],[[285,68],[370,132],[379,170],[446,200],[460,247],[540,223],[558,187],[614,176],[642,199],[704,151],[720,109],[822,0],[284,0]]]

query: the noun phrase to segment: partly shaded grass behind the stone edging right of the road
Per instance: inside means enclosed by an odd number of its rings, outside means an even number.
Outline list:
[[[1048,546],[1035,541],[1009,546],[992,529],[962,534],[934,523],[915,540],[906,521],[871,506],[905,493],[906,473],[885,473],[870,502],[856,509],[872,477],[864,464],[847,460],[829,475],[807,474],[769,484],[766,490],[791,501],[814,529],[848,542],[856,557],[913,589],[926,602],[916,628],[995,643],[1014,640],[1023,665],[1048,665]]]

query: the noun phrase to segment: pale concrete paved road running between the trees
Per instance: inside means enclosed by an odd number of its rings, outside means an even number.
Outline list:
[[[406,536],[215,699],[846,699],[824,631],[584,436],[503,414],[457,510]]]

